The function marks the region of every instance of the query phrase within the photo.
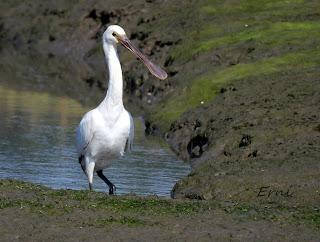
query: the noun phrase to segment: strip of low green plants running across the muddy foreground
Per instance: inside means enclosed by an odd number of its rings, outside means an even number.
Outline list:
[[[289,220],[320,227],[320,210],[316,207],[258,206],[248,203],[224,205],[214,201],[169,200],[156,197],[107,196],[100,192],[52,190],[40,185],[14,180],[1,180],[0,211],[15,209],[31,214],[62,216],[90,211],[104,214],[89,218],[85,226],[105,227],[111,224],[135,226],[159,225],[162,217],[189,217],[224,211],[245,220]],[[27,196],[28,198],[23,198]],[[158,221],[158,222],[157,222]]]

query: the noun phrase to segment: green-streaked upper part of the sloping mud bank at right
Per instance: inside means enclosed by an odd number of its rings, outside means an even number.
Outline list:
[[[151,122],[166,131],[184,112],[211,102],[227,84],[319,65],[320,23],[312,17],[317,7],[319,3],[302,0],[201,1],[194,6],[199,12],[197,24],[172,51],[174,58],[192,66],[182,70],[183,80],[178,80],[175,93],[153,109]],[[208,68],[207,56],[221,56],[221,52],[239,60],[222,59],[219,66]],[[195,68],[199,69],[196,76]]]

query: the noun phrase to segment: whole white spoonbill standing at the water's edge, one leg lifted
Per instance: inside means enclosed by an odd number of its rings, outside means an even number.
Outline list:
[[[77,152],[79,163],[87,175],[89,189],[92,190],[93,173],[108,185],[109,194],[116,187],[103,175],[102,170],[111,162],[130,151],[134,136],[134,125],[130,113],[122,101],[122,70],[117,53],[117,44],[122,44],[148,67],[159,79],[167,78],[167,73],[153,64],[127,38],[124,30],[118,25],[111,25],[104,32],[103,50],[109,68],[108,91],[95,109],[87,112],[77,128]]]

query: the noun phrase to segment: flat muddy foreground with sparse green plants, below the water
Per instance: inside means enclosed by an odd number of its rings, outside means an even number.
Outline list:
[[[1,241],[317,241],[319,210],[107,196],[0,181]]]

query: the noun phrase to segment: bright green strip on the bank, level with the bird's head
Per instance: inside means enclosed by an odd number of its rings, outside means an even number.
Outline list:
[[[288,44],[303,48],[309,42],[320,37],[318,21],[305,22],[269,22],[241,21],[234,32],[226,32],[222,27],[207,26],[193,33],[192,40],[174,50],[174,56],[190,60],[192,56],[206,53],[217,48],[230,48],[246,41],[255,41],[257,45],[268,48],[280,48]],[[312,36],[312,38],[310,38]],[[303,43],[303,44],[302,44]],[[188,50],[188,51],[186,51]]]

